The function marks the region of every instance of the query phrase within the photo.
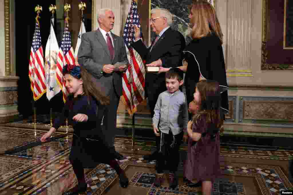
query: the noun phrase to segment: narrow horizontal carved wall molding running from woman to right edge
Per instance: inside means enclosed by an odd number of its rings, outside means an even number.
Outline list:
[[[271,91],[293,91],[293,86],[277,85],[241,85],[228,83],[229,89],[251,89],[251,90],[271,90]]]

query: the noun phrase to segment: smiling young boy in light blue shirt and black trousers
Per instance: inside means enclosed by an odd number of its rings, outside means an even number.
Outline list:
[[[156,136],[161,136],[154,185],[161,186],[164,177],[163,170],[166,168],[170,171],[170,187],[175,188],[174,174],[179,164],[179,147],[183,138],[183,129],[188,123],[188,108],[185,95],[179,90],[183,84],[182,70],[171,68],[166,72],[165,80],[167,91],[159,95],[153,117],[154,133]],[[165,161],[167,161],[167,167],[165,167]]]

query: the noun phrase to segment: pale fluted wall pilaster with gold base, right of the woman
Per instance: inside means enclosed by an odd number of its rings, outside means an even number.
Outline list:
[[[226,37],[224,49],[227,76],[252,76],[250,61],[252,1],[227,0],[225,2],[227,18],[226,29],[223,29],[223,32]],[[224,1],[221,2],[224,3]]]

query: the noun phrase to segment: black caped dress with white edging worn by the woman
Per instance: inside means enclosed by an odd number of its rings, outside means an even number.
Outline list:
[[[219,82],[222,91],[221,108],[224,113],[229,112],[225,61],[219,37],[212,33],[200,39],[193,39],[183,53],[188,62],[184,80],[187,103],[193,100],[195,85],[201,74],[205,79]]]

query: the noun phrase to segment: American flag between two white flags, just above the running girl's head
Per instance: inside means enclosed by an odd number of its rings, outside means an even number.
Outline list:
[[[68,92],[65,87],[65,80],[63,78],[62,70],[66,64],[75,64],[74,51],[71,46],[71,35],[68,30],[68,20],[64,21],[64,32],[62,35],[62,42],[58,53],[56,79],[63,92],[63,101],[66,102]]]

